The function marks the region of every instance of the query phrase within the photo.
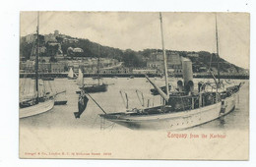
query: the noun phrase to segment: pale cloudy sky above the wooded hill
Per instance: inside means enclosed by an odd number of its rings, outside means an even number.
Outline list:
[[[162,13],[165,49],[216,53],[216,16],[220,56],[249,69],[250,16],[246,13]],[[21,36],[35,32],[36,17],[36,12],[21,12]],[[161,49],[157,12],[40,12],[39,28],[40,34],[58,29],[120,49]]]

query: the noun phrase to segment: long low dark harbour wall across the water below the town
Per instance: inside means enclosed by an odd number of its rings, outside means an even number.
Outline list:
[[[130,78],[133,76],[134,78],[145,78],[144,74],[99,74],[101,78]],[[160,77],[160,74],[147,74],[150,78]],[[34,74],[32,73],[21,73],[20,78],[34,78]],[[67,73],[44,73],[39,74],[39,78],[67,78]],[[85,78],[93,78],[97,77],[97,74],[84,74]],[[182,75],[175,75],[175,78],[181,78]],[[193,77],[195,79],[212,79],[213,77],[208,74],[194,74]],[[171,77],[170,77],[171,78]],[[249,80],[248,75],[221,75],[221,79],[239,79],[239,80]]]

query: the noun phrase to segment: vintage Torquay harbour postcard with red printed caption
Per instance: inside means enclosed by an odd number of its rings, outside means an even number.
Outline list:
[[[248,13],[20,24],[20,158],[249,159]]]

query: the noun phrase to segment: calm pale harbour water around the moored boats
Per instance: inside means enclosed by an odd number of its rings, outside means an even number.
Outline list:
[[[25,80],[21,79],[20,83],[24,83]],[[164,79],[155,78],[152,79],[158,85],[164,85]],[[196,79],[195,83],[199,80]],[[202,80],[200,80],[202,81]],[[203,80],[207,81],[207,80]],[[27,81],[28,82],[28,81]],[[32,82],[32,81],[31,81]],[[85,79],[85,83],[93,83],[92,79]],[[96,82],[96,81],[95,81]],[[146,79],[135,78],[135,79],[103,79],[104,83],[108,83],[108,90],[106,92],[92,93],[92,97],[97,103],[105,110],[106,113],[121,112],[125,111],[125,104],[121,97],[120,90],[126,92],[128,95],[128,106],[129,108],[141,108],[141,102],[138,99],[136,89],[143,92],[145,98],[145,104],[148,103],[150,106],[160,105],[160,96],[153,96],[150,93],[150,88],[153,88],[151,83],[147,83]],[[177,80],[170,80],[173,85],[176,85]],[[236,103],[236,108],[230,114],[223,118],[209,122],[207,124],[194,127],[192,129],[226,129],[226,130],[247,130],[249,127],[249,81],[236,81],[231,82],[239,83],[245,82],[239,93],[239,100]],[[102,124],[101,118],[98,114],[102,114],[102,111],[96,106],[93,100],[89,100],[87,109],[81,115],[80,119],[75,119],[74,112],[78,111],[78,97],[76,90],[79,90],[76,81],[67,79],[55,79],[51,81],[51,87],[55,91],[66,90],[66,93],[57,96],[57,100],[66,99],[68,100],[66,105],[57,105],[46,113],[35,115],[32,117],[20,119],[21,127],[28,128],[66,128],[66,129],[100,129],[104,126],[108,129],[127,129],[110,122]]]

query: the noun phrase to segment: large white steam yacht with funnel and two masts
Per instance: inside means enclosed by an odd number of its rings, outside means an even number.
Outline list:
[[[165,92],[147,76],[146,79],[158,90],[164,104],[156,107],[134,108],[126,112],[100,114],[99,116],[130,129],[181,130],[210,122],[230,113],[235,108],[241,83],[229,86],[225,89],[221,87],[219,64],[218,81],[215,80],[215,86],[209,83],[198,83],[198,89],[195,90],[192,62],[188,59],[183,59],[183,81],[177,82],[178,88],[176,91],[169,92],[161,14],[160,28],[164,61]],[[217,26],[216,33],[217,56],[219,57]]]

